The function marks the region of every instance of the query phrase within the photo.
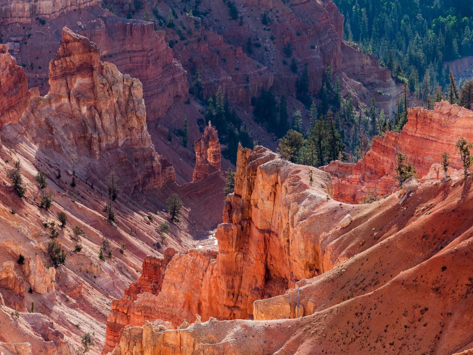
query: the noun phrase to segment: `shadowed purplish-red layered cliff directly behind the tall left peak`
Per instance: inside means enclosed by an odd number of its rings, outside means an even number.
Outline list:
[[[173,58],[165,32],[155,31],[152,23],[105,16],[90,23],[84,35],[100,47],[103,60],[140,79],[148,121],[161,118],[175,100],[188,96],[186,71]]]

